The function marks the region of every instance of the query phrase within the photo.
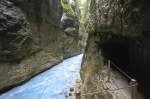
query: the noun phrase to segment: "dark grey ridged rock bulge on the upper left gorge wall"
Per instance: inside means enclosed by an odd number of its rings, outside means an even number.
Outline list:
[[[0,8],[0,61],[22,59],[32,45],[29,23],[13,3],[1,0]]]

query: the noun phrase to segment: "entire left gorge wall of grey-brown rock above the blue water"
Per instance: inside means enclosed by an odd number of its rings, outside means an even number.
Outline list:
[[[61,0],[0,0],[0,89],[80,52],[78,6],[68,4],[75,14],[64,20]]]

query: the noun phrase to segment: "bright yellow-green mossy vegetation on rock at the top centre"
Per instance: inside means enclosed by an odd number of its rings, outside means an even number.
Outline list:
[[[64,11],[67,13],[68,16],[70,16],[70,17],[75,16],[75,12],[73,11],[68,0],[61,0],[61,5],[62,5]]]

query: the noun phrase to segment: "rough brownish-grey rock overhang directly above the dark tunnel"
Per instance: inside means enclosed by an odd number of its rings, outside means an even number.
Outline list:
[[[94,2],[95,1],[95,2]],[[139,36],[149,31],[148,0],[94,0],[93,11],[96,32],[120,33],[124,36]],[[94,6],[95,5],[95,6]],[[146,23],[146,24],[145,24]]]

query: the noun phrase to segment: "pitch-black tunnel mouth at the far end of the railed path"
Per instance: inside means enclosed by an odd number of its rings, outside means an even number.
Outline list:
[[[125,72],[130,73],[130,43],[127,38],[112,37],[99,46],[104,60],[111,60]]]

